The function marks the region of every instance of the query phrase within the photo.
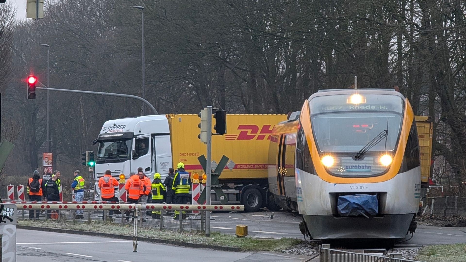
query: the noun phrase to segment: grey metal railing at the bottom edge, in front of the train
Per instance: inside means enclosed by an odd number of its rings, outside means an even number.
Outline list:
[[[414,260],[402,259],[401,254],[370,255],[331,249],[330,245],[322,245],[320,248],[321,262],[419,262]]]

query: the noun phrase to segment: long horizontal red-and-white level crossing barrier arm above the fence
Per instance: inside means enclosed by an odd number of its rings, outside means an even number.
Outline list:
[[[60,210],[205,210],[205,211],[244,211],[242,205],[141,205],[141,204],[18,204],[18,209],[34,210],[34,209],[60,209]]]

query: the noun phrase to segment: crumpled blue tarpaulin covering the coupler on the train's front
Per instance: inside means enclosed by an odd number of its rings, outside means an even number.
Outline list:
[[[341,216],[376,216],[378,200],[376,195],[355,194],[338,197],[338,214]]]

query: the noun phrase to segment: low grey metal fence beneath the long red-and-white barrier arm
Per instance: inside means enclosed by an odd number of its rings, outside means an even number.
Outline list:
[[[82,210],[83,215],[81,218],[76,218],[77,210],[57,210],[55,213],[51,211],[51,217],[58,216],[60,221],[72,221],[77,223],[86,223],[91,221],[107,221],[112,222],[117,225],[132,225],[133,224],[133,214],[126,214],[122,211],[122,214],[112,214],[110,216],[108,210]],[[47,218],[46,210],[35,210],[35,214],[39,214],[37,220],[54,220],[52,218]],[[144,217],[145,213],[145,217]],[[142,215],[141,215],[142,214]],[[172,230],[178,232],[189,232],[197,231],[204,232],[206,229],[205,220],[206,220],[206,211],[199,211],[199,213],[191,213],[191,211],[186,211],[184,215],[179,216],[180,219],[174,219],[174,212],[172,211],[160,211],[159,217],[152,217],[152,211],[138,211],[138,226],[144,228],[154,228],[159,230]],[[18,210],[18,218],[21,219],[32,219],[36,220],[34,216],[34,211],[31,212],[31,218],[29,215],[29,210]],[[56,220],[56,219],[55,219]]]

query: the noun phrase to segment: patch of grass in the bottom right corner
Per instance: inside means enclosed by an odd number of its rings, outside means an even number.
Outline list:
[[[425,262],[465,262],[466,244],[427,246],[419,251],[416,260]]]

